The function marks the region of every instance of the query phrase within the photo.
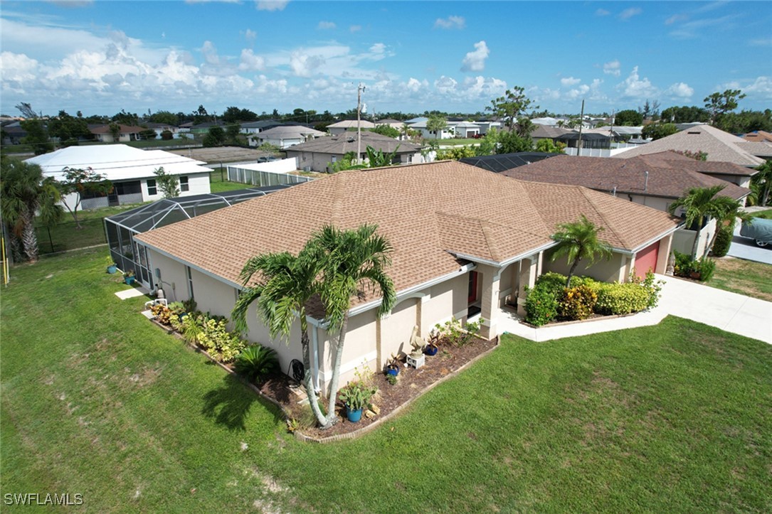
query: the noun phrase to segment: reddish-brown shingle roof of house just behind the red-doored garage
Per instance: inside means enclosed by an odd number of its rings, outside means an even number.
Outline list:
[[[673,160],[668,164],[666,161],[659,161],[658,165],[652,165],[643,157],[623,161],[608,157],[558,155],[501,174],[525,181],[584,185],[586,188],[607,193],[616,188],[618,193],[664,198],[679,198],[690,188],[707,188],[714,185],[725,186],[721,194],[735,199],[744,198],[750,193],[746,188],[696,171],[699,167],[698,161],[688,157],[686,159],[688,162]]]

